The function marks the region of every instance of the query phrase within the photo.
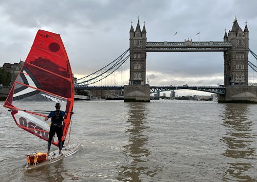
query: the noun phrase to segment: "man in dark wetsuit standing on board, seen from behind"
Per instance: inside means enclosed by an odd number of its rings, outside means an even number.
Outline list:
[[[62,122],[64,121],[64,116],[67,114],[64,111],[61,111],[61,104],[58,102],[56,103],[56,111],[51,111],[48,116],[45,117],[45,121],[51,118],[51,126],[49,131],[49,138],[47,143],[47,154],[49,155],[51,141],[54,134],[57,134],[59,140],[59,154],[62,154]]]

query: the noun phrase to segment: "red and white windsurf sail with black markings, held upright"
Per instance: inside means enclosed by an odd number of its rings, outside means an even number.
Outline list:
[[[39,30],[4,106],[20,128],[48,140],[51,121],[44,121],[49,113],[45,110],[55,110],[57,102],[67,113],[64,141],[74,105],[74,78],[60,34]],[[58,138],[52,143],[58,146]]]

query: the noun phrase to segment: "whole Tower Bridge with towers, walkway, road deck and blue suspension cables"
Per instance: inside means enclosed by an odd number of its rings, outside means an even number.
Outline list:
[[[174,89],[201,90],[218,94],[219,102],[257,102],[256,86],[248,86],[248,65],[257,72],[257,66],[248,61],[249,30],[245,24],[244,30],[233,21],[231,30],[225,30],[224,41],[193,42],[148,42],[146,41],[145,25],[141,30],[139,20],[134,31],[130,28],[130,48],[115,61],[90,74],[78,79],[75,89],[123,89],[124,101],[150,101],[150,93]],[[129,51],[129,55],[125,56]],[[223,52],[224,56],[224,86],[150,86],[146,84],[146,52]],[[257,60],[257,55],[253,54]],[[130,79],[124,86],[89,86],[96,83],[119,68],[130,58]],[[250,64],[251,65],[250,65]],[[97,80],[98,79],[98,80]]]

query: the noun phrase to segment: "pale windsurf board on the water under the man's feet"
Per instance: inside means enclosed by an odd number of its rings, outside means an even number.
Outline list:
[[[48,160],[37,163],[35,166],[27,164],[24,169],[25,170],[31,170],[31,169],[35,169],[35,168],[39,168],[39,167],[49,165],[50,163],[61,160],[64,157],[68,157],[72,154],[75,154],[76,152],[78,152],[80,147],[81,147],[80,143],[75,143],[75,144],[72,144],[72,145],[68,145],[68,146],[66,146],[65,148],[62,149],[62,155],[61,156],[59,156],[59,149],[56,150],[56,151],[50,152],[50,154],[48,156]]]

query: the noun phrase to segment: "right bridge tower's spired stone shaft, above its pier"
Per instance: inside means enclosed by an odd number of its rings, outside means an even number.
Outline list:
[[[232,47],[224,51],[224,85],[248,86],[248,52],[249,31],[245,25],[244,31],[240,28],[235,18],[228,35],[225,31],[224,42],[231,42]]]

